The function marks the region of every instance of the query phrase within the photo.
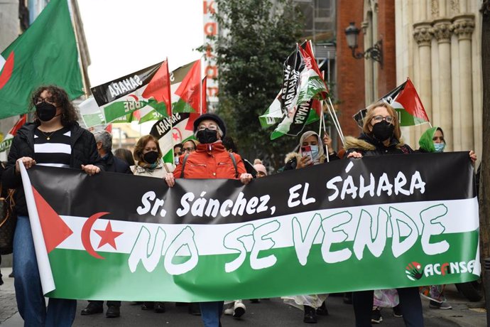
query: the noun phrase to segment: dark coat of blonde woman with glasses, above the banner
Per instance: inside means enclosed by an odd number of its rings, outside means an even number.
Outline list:
[[[399,142],[397,139],[391,139],[388,146],[373,137],[362,133],[359,139],[352,136],[345,138],[344,144],[347,154],[359,152],[363,156],[381,156],[383,154],[411,154],[413,150],[407,144]]]

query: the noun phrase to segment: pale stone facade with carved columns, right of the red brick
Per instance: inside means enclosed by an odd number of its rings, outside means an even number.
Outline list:
[[[411,5],[408,5],[408,4]],[[410,76],[448,151],[481,156],[481,0],[396,0],[396,77]],[[404,131],[411,144],[425,125]]]

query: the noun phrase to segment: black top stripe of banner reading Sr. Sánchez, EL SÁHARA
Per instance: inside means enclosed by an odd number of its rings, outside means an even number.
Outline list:
[[[151,223],[239,223],[311,210],[476,196],[467,152],[344,159],[260,178],[246,186],[234,180],[186,178],[177,180],[170,191],[160,178],[106,172],[87,176],[50,167],[34,167],[28,173],[60,215],[89,217],[105,211],[111,213],[110,219]],[[374,195],[367,188],[361,197],[361,176],[366,188],[371,175]],[[219,204],[215,217],[213,203]],[[226,206],[231,210],[235,203],[249,205],[254,213],[222,217],[220,212],[227,213],[227,208],[220,210]]]

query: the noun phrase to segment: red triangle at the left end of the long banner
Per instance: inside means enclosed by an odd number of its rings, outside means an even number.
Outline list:
[[[39,221],[41,230],[43,230],[44,242],[46,250],[49,252],[55,250],[61,242],[66,240],[73,231],[61,219],[58,213],[55,212],[49,203],[33,188],[34,200],[38,208]]]

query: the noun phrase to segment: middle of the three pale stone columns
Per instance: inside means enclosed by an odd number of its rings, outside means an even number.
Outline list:
[[[451,21],[448,18],[440,18],[434,21],[432,31],[437,39],[439,52],[439,124],[444,130],[447,141],[447,151],[452,151],[452,96],[451,96]]]

